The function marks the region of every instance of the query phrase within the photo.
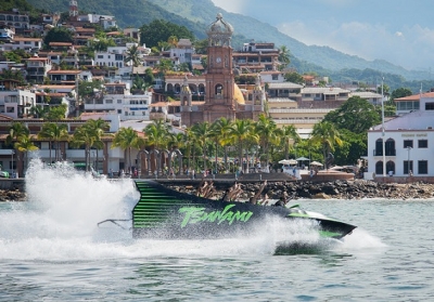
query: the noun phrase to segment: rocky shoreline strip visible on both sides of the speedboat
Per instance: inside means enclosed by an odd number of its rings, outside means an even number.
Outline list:
[[[202,180],[156,180],[162,185],[169,188],[195,194]],[[225,191],[235,183],[235,180],[212,180],[215,186],[214,199],[220,199]],[[18,183],[18,184],[17,184]],[[250,197],[258,192],[263,181],[240,180],[243,193],[240,195],[240,200],[248,200]],[[2,186],[0,188],[1,201],[27,201],[25,192],[25,180],[14,180],[10,187]],[[286,192],[291,200],[297,199],[340,199],[340,200],[361,200],[361,199],[431,199],[434,198],[434,184],[427,183],[378,183],[366,180],[350,181],[330,181],[330,182],[310,182],[310,181],[286,181],[286,180],[268,180],[263,195],[267,194],[269,199],[279,199]],[[261,198],[261,197],[260,197]]]

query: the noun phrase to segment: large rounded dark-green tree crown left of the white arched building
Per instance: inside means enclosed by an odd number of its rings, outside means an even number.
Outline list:
[[[332,122],[337,129],[347,129],[354,133],[363,133],[381,122],[375,107],[360,96],[352,96],[335,110],[328,113],[323,119]]]

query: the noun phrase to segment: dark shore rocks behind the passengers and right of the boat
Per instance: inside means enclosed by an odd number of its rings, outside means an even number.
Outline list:
[[[231,184],[216,184],[216,193],[213,198],[219,199],[226,188]],[[247,200],[260,186],[261,182],[242,183],[243,194],[240,199]],[[195,194],[197,185],[177,185],[165,184],[166,186],[179,192]],[[373,181],[354,180],[354,181],[334,181],[323,183],[312,182],[268,182],[264,194],[270,199],[279,199],[286,192],[292,199],[429,199],[434,198],[434,185],[425,183],[376,183]]]

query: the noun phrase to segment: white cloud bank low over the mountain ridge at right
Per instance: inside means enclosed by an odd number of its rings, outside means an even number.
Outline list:
[[[383,24],[329,19],[308,25],[296,21],[278,28],[308,45],[328,45],[366,60],[382,58],[410,69],[434,65],[434,30],[419,25],[392,31]]]

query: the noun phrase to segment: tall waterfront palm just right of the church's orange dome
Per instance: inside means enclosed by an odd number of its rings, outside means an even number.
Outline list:
[[[256,122],[256,133],[259,135],[259,143],[263,147],[263,153],[266,155],[266,167],[269,167],[270,155],[269,148],[270,144],[278,144],[280,141],[279,130],[276,122],[267,117],[266,115],[260,115],[258,121]]]

